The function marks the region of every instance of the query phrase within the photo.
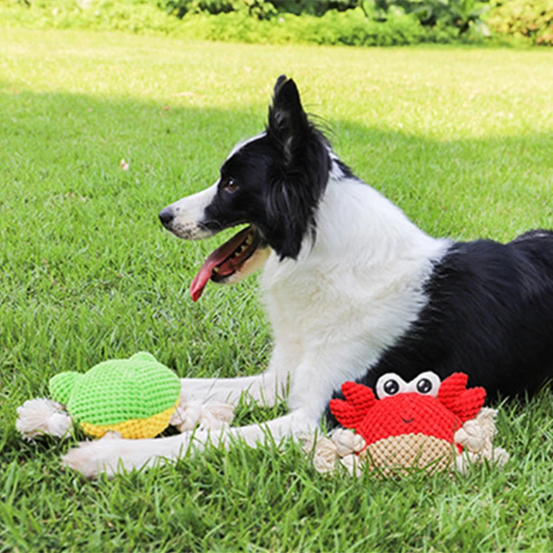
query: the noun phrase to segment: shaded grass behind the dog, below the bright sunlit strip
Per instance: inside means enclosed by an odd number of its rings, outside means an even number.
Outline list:
[[[167,203],[212,183],[265,113],[0,93],[4,420],[53,372],[136,350],[157,352],[181,375],[266,364],[256,280],[212,287],[191,304],[186,287],[213,242],[184,245],[157,221]],[[553,227],[553,133],[444,142],[329,124],[343,160],[431,234],[509,239]]]

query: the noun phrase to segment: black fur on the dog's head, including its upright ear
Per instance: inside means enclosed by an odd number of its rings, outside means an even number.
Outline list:
[[[222,165],[218,195],[201,225],[221,230],[249,222],[281,259],[297,258],[305,235],[316,232],[314,216],[331,164],[326,145],[294,81],[280,76],[266,133]],[[230,179],[238,185],[232,193],[225,189]]]

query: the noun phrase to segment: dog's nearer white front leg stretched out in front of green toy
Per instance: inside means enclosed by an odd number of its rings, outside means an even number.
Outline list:
[[[62,463],[92,478],[105,472],[114,475],[119,470],[153,467],[167,460],[177,460],[191,453],[202,451],[207,444],[228,447],[234,439],[243,440],[255,447],[265,436],[280,440],[300,432],[309,432],[316,427],[316,420],[305,410],[290,412],[263,424],[250,424],[246,427],[218,431],[198,430],[177,436],[158,439],[128,440],[109,439],[83,442],[71,449]]]

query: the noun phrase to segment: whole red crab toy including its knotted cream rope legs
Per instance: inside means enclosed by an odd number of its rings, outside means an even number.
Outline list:
[[[467,382],[463,373],[440,382],[427,371],[408,383],[388,373],[376,382],[378,399],[371,388],[346,382],[345,400],[330,402],[343,429],[330,439],[307,436],[304,448],[314,451],[321,473],[335,470],[337,463],[351,475],[360,475],[365,465],[382,475],[410,468],[466,472],[484,459],[504,465],[509,454],[493,446],[497,411],[482,408],[484,388],[467,389]]]

